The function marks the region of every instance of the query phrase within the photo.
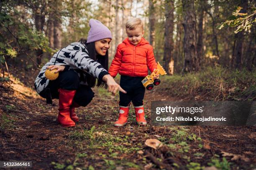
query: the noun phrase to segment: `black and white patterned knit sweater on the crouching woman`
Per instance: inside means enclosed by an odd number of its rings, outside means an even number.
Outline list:
[[[49,65],[64,65],[74,70],[81,69],[101,81],[102,77],[108,74],[108,71],[99,62],[90,59],[84,45],[74,42],[57,51],[51,60],[42,67],[35,80],[35,88],[38,94],[49,84],[49,80],[45,77],[45,71]]]

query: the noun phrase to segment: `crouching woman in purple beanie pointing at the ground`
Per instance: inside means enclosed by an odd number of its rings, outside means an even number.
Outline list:
[[[59,98],[58,122],[64,127],[75,126],[79,120],[75,107],[88,105],[94,97],[91,87],[108,85],[115,94],[117,90],[126,93],[108,74],[108,49],[112,39],[110,30],[98,20],[89,21],[87,41],[80,40],[62,48],[54,54],[39,72],[35,88],[39,95],[52,103]],[[56,80],[45,77],[46,69],[59,72]]]

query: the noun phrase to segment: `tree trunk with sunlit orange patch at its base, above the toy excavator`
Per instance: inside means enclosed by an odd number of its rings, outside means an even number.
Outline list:
[[[173,75],[173,29],[174,29],[174,0],[165,0],[165,18],[164,23],[164,70],[167,74]]]

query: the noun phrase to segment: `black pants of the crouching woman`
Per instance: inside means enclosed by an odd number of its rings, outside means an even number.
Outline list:
[[[72,69],[59,72],[59,77],[56,80],[50,80],[49,85],[39,95],[47,98],[50,93],[52,99],[58,99],[59,88],[77,90],[73,100],[80,106],[88,105],[94,97],[92,89],[87,85],[81,85],[78,74]]]

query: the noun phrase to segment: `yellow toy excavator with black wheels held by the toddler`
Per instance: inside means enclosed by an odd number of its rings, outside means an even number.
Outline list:
[[[154,80],[154,76],[156,74],[160,74],[160,75],[166,75],[166,71],[164,70],[164,68],[160,65],[159,62],[157,62],[157,69],[154,70],[151,75],[147,75],[141,82],[143,84],[144,87],[146,87],[147,90],[151,90],[154,85],[159,85],[160,84],[160,79],[155,79]]]

